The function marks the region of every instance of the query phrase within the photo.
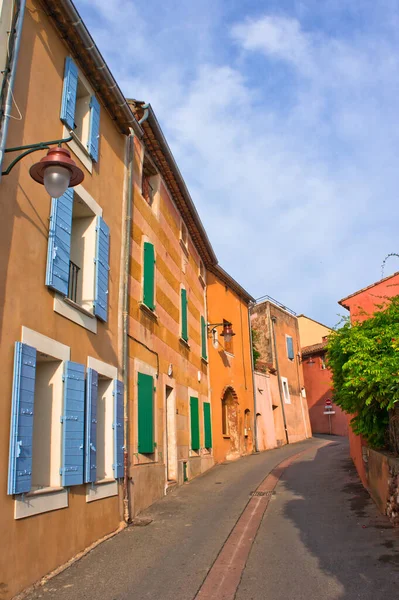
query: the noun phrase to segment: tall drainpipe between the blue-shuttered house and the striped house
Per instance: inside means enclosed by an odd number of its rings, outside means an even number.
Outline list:
[[[132,223],[133,223],[133,169],[134,169],[134,133],[130,129],[128,139],[127,158],[128,158],[128,181],[126,194],[126,213],[124,228],[124,269],[123,269],[123,298],[122,298],[122,373],[124,384],[123,395],[123,416],[124,416],[124,452],[123,452],[123,518],[126,523],[130,520],[129,506],[129,356],[128,356],[128,334],[129,334],[129,272],[130,272],[130,251],[132,244]]]

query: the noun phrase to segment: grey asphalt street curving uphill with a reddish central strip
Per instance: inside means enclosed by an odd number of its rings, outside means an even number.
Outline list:
[[[276,465],[303,450],[283,471],[268,504],[259,500],[266,511],[260,525],[252,523],[255,531],[259,525],[255,540],[247,536],[249,556],[238,589],[232,596],[230,590],[209,595],[212,572],[229,544],[237,553],[227,572],[233,579],[241,569],[251,492]],[[264,487],[271,477],[260,489],[272,489]],[[219,465],[141,516],[153,522],[99,545],[28,598],[193,600],[200,589],[198,598],[205,600],[234,594],[236,600],[399,597],[399,534],[358,483],[341,438],[314,438]]]

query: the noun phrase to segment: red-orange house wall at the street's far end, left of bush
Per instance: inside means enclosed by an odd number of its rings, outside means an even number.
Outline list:
[[[333,399],[333,391],[331,371],[322,368],[323,354],[325,352],[306,356],[302,362],[312,431],[313,433],[348,435],[346,414],[339,406],[332,404],[334,415],[329,417],[324,414],[326,400]],[[329,419],[331,419],[331,430]]]

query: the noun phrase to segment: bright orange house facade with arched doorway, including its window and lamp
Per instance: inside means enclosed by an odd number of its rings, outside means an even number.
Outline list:
[[[208,361],[215,462],[255,449],[249,303],[253,298],[219,266],[207,273]],[[226,342],[223,324],[234,336]]]

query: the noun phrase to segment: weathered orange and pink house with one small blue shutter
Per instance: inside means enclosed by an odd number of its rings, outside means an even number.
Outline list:
[[[272,317],[276,318],[274,325],[278,366],[280,377],[288,380],[291,403],[284,402],[283,408],[286,416],[288,438],[290,443],[311,437],[311,427],[306,400],[302,397],[304,387],[302,365],[299,360],[300,340],[298,320],[284,309],[271,302],[262,302],[252,309],[251,322],[254,330],[258,332],[257,348],[261,354],[260,364],[265,368],[272,367],[270,372],[270,386],[272,390],[273,417],[276,423],[277,445],[286,443],[284,429],[281,428],[283,418],[280,388],[277,376],[276,353],[272,335]],[[295,357],[290,360],[287,355],[286,335],[293,339]]]

